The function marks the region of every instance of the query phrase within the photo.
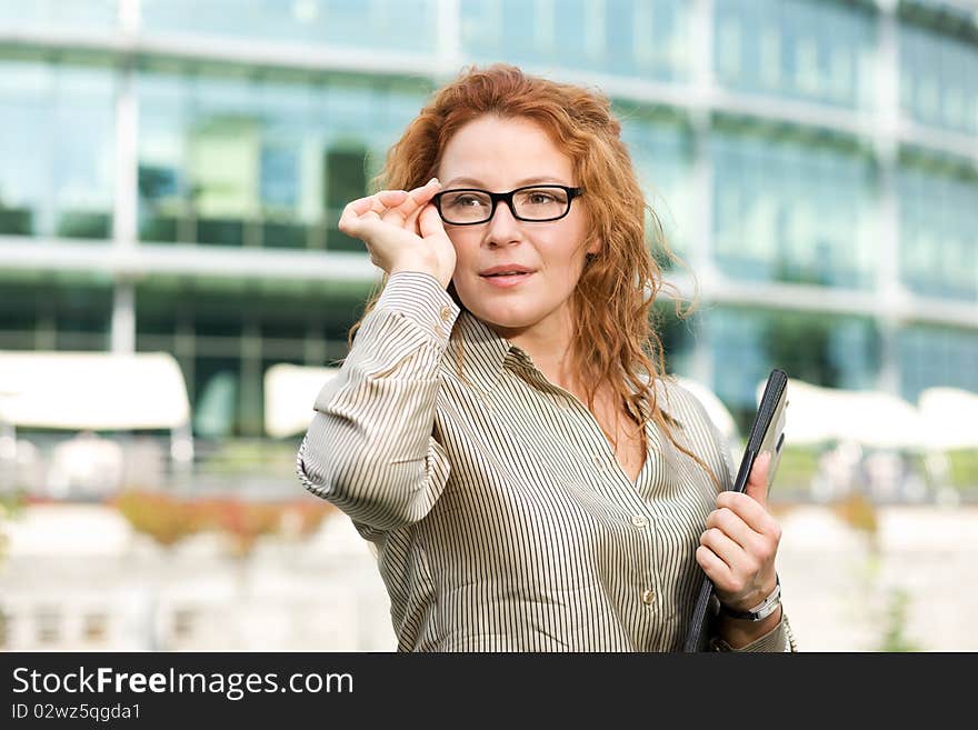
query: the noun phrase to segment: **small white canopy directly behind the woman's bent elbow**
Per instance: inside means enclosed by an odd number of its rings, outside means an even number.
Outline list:
[[[312,420],[312,404],[339,368],[280,363],[265,371],[265,430],[272,438],[302,433]]]

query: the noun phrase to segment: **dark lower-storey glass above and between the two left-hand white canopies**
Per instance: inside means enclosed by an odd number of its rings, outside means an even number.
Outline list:
[[[337,296],[315,283],[151,277],[137,286],[137,348],[178,359],[197,436],[261,436],[265,371],[276,362],[322,366],[346,356],[347,331],[367,293]]]

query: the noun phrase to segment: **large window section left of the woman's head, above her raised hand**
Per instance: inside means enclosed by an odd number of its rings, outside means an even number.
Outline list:
[[[362,251],[336,223],[428,87],[146,68],[137,89],[143,240]]]

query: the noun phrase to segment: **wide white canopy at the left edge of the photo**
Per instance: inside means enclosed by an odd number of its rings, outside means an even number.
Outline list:
[[[189,420],[187,384],[169,353],[0,351],[0,422],[99,431]]]

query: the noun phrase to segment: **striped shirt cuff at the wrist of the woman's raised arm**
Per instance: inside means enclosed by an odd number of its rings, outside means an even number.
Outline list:
[[[377,300],[377,309],[402,314],[442,346],[448,343],[461,311],[441,282],[422,271],[391,274]]]

